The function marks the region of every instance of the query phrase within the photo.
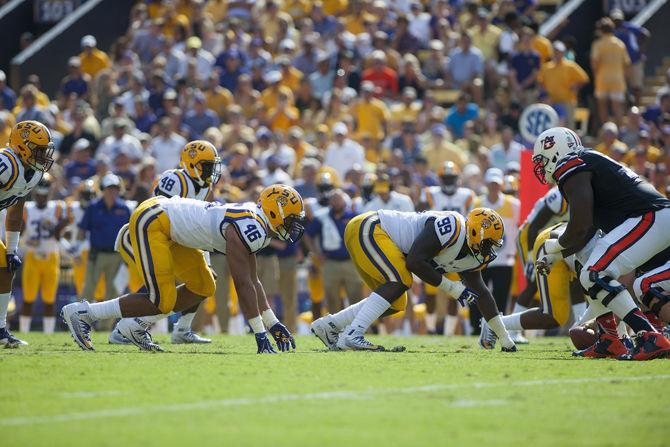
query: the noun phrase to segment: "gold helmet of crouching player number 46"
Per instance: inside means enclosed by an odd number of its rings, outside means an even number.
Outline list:
[[[298,191],[288,185],[270,185],[261,191],[258,206],[279,239],[296,242],[302,237],[305,231],[305,205]]]

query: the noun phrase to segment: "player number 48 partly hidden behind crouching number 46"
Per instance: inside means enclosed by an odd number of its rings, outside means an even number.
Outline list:
[[[171,169],[161,174],[156,188],[155,196],[165,197],[185,197],[196,200],[207,200],[211,197],[211,191],[214,185],[221,177],[221,159],[216,147],[208,141],[195,140],[187,143],[181,151],[179,169]],[[142,286],[141,280],[133,281],[132,277],[137,277],[133,273],[137,272],[137,267],[133,261],[134,255],[130,243],[130,224],[124,225],[116,238],[115,248],[121,254],[124,262],[128,266],[131,274],[129,288],[136,292]],[[209,254],[205,254],[208,259]],[[209,263],[209,259],[208,259]],[[139,279],[139,277],[137,277]],[[190,309],[185,309],[181,317],[175,323],[172,331],[172,343],[211,343],[212,340],[196,334],[191,328],[195,312],[198,310],[199,303]],[[109,342],[112,344],[128,344],[130,340],[123,337],[118,329],[119,324],[109,335]]]

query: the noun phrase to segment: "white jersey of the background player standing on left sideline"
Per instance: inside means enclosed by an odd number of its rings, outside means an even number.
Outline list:
[[[65,205],[60,200],[49,200],[44,208],[35,202],[26,202],[23,208],[25,249],[39,255],[48,255],[59,250],[55,229],[64,215]]]

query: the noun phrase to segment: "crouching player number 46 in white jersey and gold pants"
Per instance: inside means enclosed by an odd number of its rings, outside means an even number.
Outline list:
[[[256,336],[257,352],[275,352],[266,328],[281,351],[294,349],[293,336],[270,309],[258,280],[256,252],[267,247],[271,237],[296,242],[304,232],[304,219],[300,194],[280,184],[263,189],[258,203],[148,199],[133,212],[129,227],[135,265],[147,292],[101,303],[68,304],[61,315],[83,350],[93,350],[94,322],[123,318],[118,328],[124,337],[142,350],[160,351],[149,324],[214,294],[214,276],[203,251],[219,252],[226,255],[242,313]],[[177,282],[180,285],[175,287]]]

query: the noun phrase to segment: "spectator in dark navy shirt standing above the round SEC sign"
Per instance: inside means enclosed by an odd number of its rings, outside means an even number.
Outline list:
[[[540,72],[540,55],[531,47],[533,31],[524,28],[517,43],[517,50],[510,57],[509,82],[512,92],[523,105],[537,100],[537,75]]]

